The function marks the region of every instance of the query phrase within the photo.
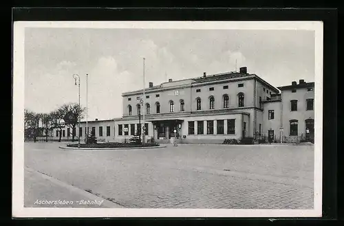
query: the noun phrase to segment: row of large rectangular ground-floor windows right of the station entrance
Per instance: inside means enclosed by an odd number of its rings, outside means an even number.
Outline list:
[[[197,135],[204,134],[204,121],[189,121],[189,135],[195,135],[195,122]],[[224,120],[216,120],[217,134],[224,134]],[[206,134],[214,134],[214,120],[206,121]],[[227,120],[227,134],[235,134],[235,119]]]

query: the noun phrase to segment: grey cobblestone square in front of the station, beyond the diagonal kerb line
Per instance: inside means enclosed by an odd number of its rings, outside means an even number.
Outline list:
[[[63,150],[61,145],[25,144],[25,166],[123,207],[313,208],[314,146]]]

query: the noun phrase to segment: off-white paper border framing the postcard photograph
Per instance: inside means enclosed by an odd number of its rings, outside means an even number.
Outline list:
[[[25,27],[194,30],[312,30],[315,34],[314,209],[104,209],[23,207]],[[16,21],[13,27],[13,217],[320,217],[322,213],[323,23],[321,21]]]

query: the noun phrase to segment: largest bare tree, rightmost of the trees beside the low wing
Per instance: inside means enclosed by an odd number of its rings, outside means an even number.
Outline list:
[[[65,124],[72,128],[72,142],[74,142],[76,125],[78,124],[79,120],[83,119],[86,108],[79,106],[79,104],[72,103],[63,104],[61,109],[65,113],[65,117],[63,117]]]

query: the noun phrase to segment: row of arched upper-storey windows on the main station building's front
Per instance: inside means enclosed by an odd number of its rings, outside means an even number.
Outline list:
[[[243,107],[245,106],[245,96],[244,93],[238,94],[238,106]],[[215,98],[213,96],[209,97],[209,109],[215,109]],[[223,95],[222,97],[222,106],[224,109],[228,109],[229,107],[229,96],[227,94]],[[141,114],[141,106],[140,104],[136,105],[138,115]],[[132,115],[132,107],[131,105],[128,106],[128,113]],[[196,98],[196,110],[202,110],[202,100],[201,98]],[[184,100],[180,100],[180,111],[185,111],[185,102]],[[175,103],[173,100],[169,101],[169,112],[175,112]],[[146,104],[146,114],[151,113],[151,104]],[[155,113],[160,113],[160,103],[155,103]]]

